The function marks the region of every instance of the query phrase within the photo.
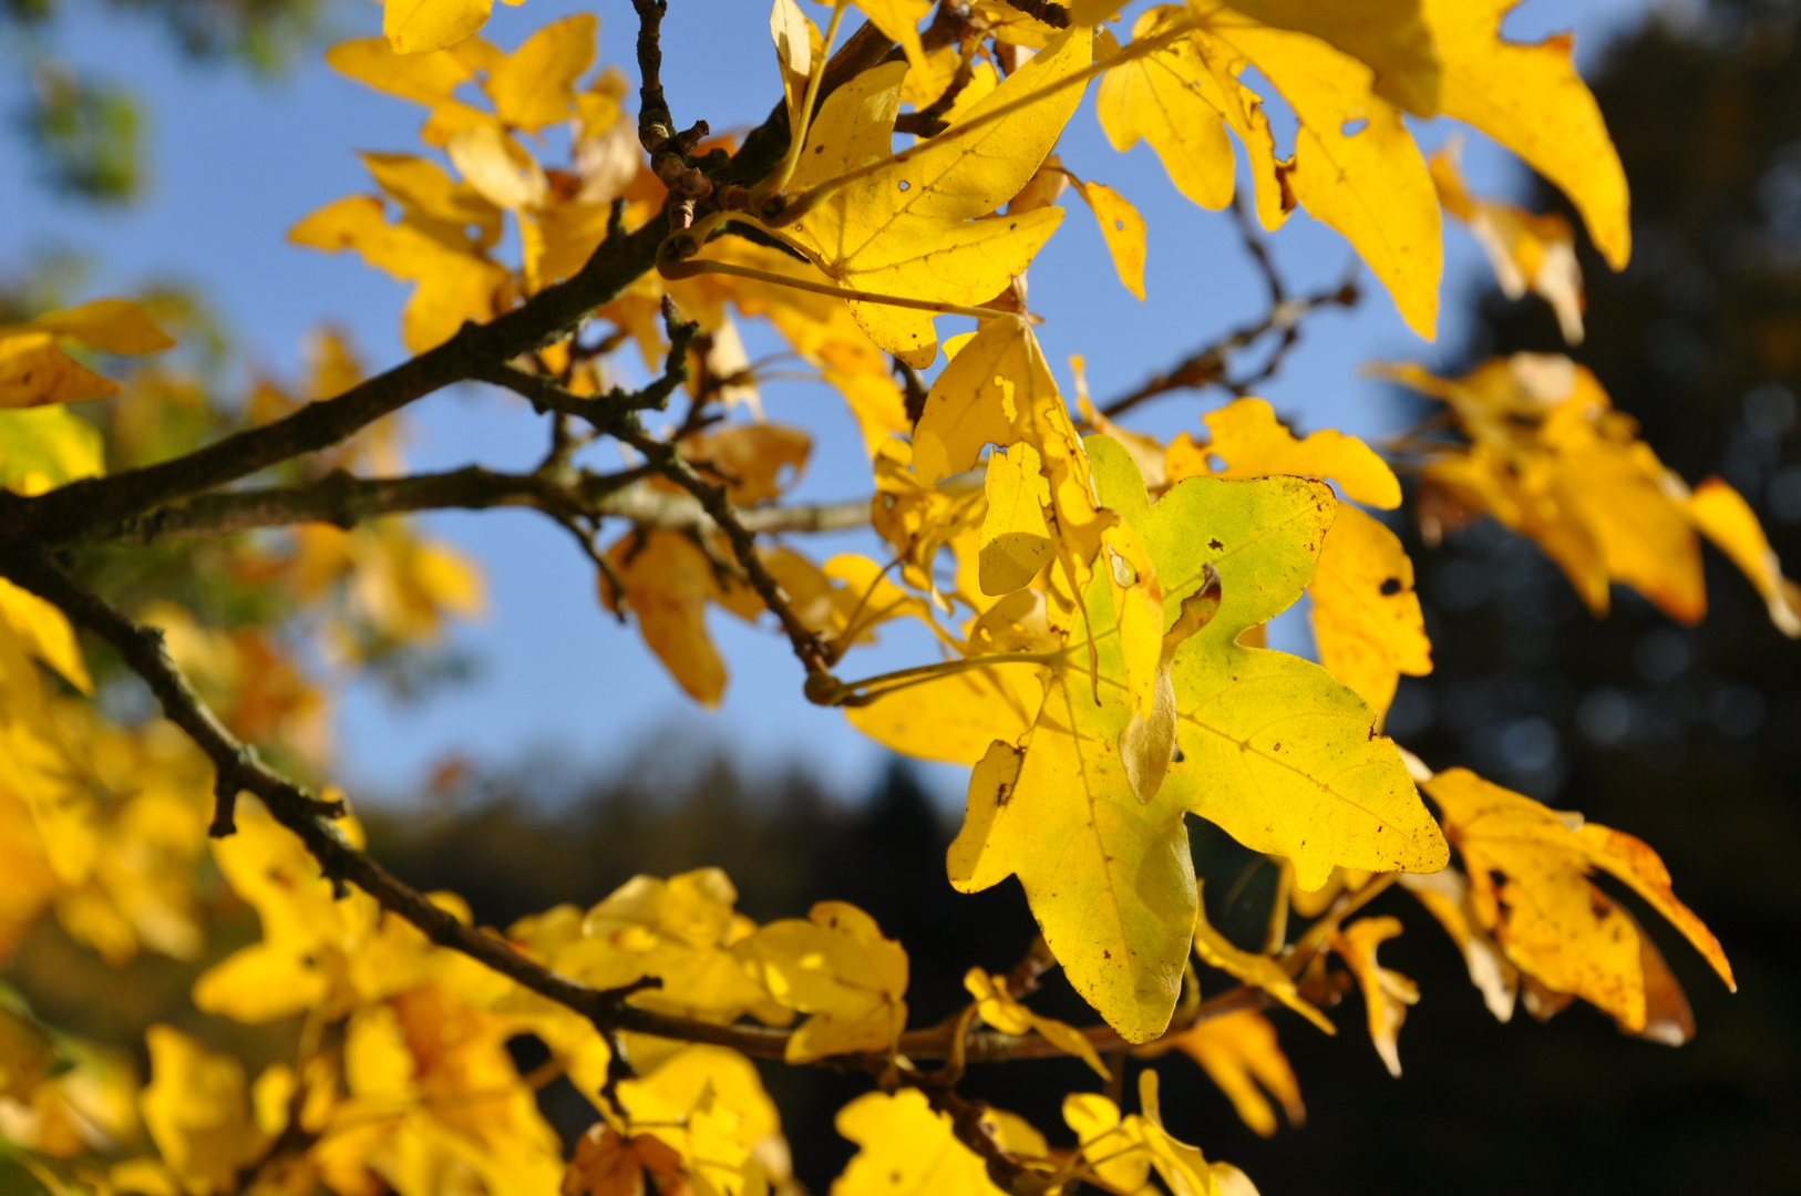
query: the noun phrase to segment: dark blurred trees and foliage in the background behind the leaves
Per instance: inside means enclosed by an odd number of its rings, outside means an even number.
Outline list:
[[[23,45],[52,7],[13,0],[0,11]],[[196,56],[256,70],[277,67],[319,20],[310,0],[117,7],[166,23]],[[1790,566],[1801,560],[1797,34],[1796,4],[1715,0],[1668,9],[1606,54],[1592,86],[1634,186],[1635,252],[1619,276],[1583,259],[1588,337],[1574,353],[1668,465],[1691,483],[1722,474],[1745,494]],[[128,140],[140,117],[119,112],[137,110],[110,110],[103,92],[56,103],[79,110],[32,117],[47,169],[79,195],[126,196],[122,184],[137,186],[139,168],[103,142],[121,124]],[[58,130],[72,131],[58,140]],[[1538,187],[1531,205],[1560,198]],[[54,270],[40,283],[54,285]],[[0,306],[38,306],[31,295],[5,299]],[[1444,373],[1493,353],[1561,349],[1543,304],[1491,290],[1468,303],[1480,319]],[[1394,402],[1396,423],[1425,414],[1399,394]],[[1614,612],[1592,620],[1536,548],[1489,522],[1439,546],[1412,530],[1407,537],[1435,670],[1403,681],[1389,729],[1435,767],[1470,764],[1653,843],[1677,892],[1725,944],[1740,992],[1724,992],[1659,928],[1653,935],[1695,1005],[1691,1045],[1623,1037],[1583,1005],[1549,1025],[1524,1012],[1498,1025],[1452,944],[1414,917],[1383,956],[1425,992],[1401,1032],[1401,1081],[1385,1075],[1363,1039],[1354,1001],[1336,1016],[1336,1039],[1277,1012],[1308,1126],[1257,1138],[1198,1068],[1165,1059],[1156,1066],[1171,1129],[1244,1167],[1268,1196],[1794,1191],[1801,648],[1770,629],[1756,596],[1713,555],[1711,611],[1680,629],[1623,587]],[[558,901],[598,901],[634,872],[699,865],[724,866],[740,908],[758,920],[800,913],[814,899],[852,901],[908,946],[913,1019],[931,1023],[965,1000],[969,965],[1003,971],[1025,953],[1032,922],[1023,897],[1014,884],[976,897],[951,892],[942,852],[953,825],[904,767],[877,793],[848,796],[825,793],[801,769],[746,776],[729,757],[708,758],[704,746],[672,738],[607,778],[585,776],[575,757],[553,751],[513,767],[448,762],[403,812],[367,818],[378,857],[421,888],[461,892],[486,924]],[[1217,832],[1194,830],[1198,870],[1216,881],[1210,919],[1250,942],[1273,868]],[[171,1019],[254,1068],[290,1045],[283,1036],[294,1027],[252,1030],[200,1018],[187,1001],[200,967],[256,935],[254,915],[225,908],[229,901],[218,897],[222,929],[204,960],[142,955],[119,974],[45,919],[14,978],[41,1016],[77,1034],[131,1041],[148,1019]],[[1374,911],[1407,901],[1390,892]],[[1091,1019],[1057,983],[1041,1007]],[[531,1043],[517,1048],[528,1066],[537,1061]],[[1057,1083],[1054,1068],[1063,1070]],[[852,1149],[832,1133],[830,1115],[866,1081],[789,1068],[769,1068],[765,1079],[800,1176],[823,1192]],[[1088,1083],[1079,1063],[1045,1061],[976,1068],[967,1090],[1054,1129],[1054,1093]],[[567,1083],[548,1088],[544,1102],[566,1133],[593,1119]]]

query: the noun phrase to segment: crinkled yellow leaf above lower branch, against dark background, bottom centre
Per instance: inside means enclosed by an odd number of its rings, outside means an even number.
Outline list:
[[[807,920],[771,922],[733,953],[780,1005],[810,1014],[789,1036],[789,1063],[891,1050],[906,1028],[906,951],[852,904],[821,901]]]

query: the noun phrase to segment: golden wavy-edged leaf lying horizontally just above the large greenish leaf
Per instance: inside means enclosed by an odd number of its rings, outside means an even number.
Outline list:
[[[1358,503],[1381,508],[1401,504],[1401,483],[1394,470],[1356,436],[1324,429],[1300,439],[1277,421],[1275,409],[1261,398],[1239,398],[1201,420],[1210,432],[1207,443],[1196,445],[1183,432],[1169,445],[1169,481],[1203,474],[1234,479],[1295,474],[1331,479]]]

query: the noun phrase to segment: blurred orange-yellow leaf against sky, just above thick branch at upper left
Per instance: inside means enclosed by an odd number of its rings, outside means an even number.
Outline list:
[[[294,225],[288,240],[326,252],[353,249],[378,270],[416,283],[402,321],[414,353],[443,344],[465,321],[492,319],[504,303],[506,270],[407,223],[387,223],[373,196],[353,195],[321,207]]]

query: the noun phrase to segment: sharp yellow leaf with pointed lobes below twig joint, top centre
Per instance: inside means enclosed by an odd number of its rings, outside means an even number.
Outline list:
[[[1088,31],[1070,29],[1007,77],[964,122],[1088,67]],[[875,74],[875,72],[868,72]],[[827,97],[801,160],[821,178],[888,155],[904,72],[866,88],[852,81]],[[783,229],[821,270],[846,286],[933,303],[976,304],[1021,274],[1055,231],[1063,209],[1019,218],[973,220],[1012,198],[1037,171],[1081,101],[1066,86],[1012,115],[971,131],[964,124],[861,178]],[[810,182],[810,177],[807,178]],[[800,187],[800,184],[792,184]],[[852,303],[852,315],[875,344],[915,367],[938,355],[931,313],[879,303]]]

